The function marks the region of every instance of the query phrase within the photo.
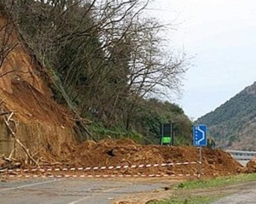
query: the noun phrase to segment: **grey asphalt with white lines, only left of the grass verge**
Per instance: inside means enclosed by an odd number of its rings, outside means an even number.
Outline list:
[[[147,181],[145,181],[147,180]],[[163,182],[116,178],[44,178],[0,183],[4,204],[105,204],[113,198],[163,187]]]

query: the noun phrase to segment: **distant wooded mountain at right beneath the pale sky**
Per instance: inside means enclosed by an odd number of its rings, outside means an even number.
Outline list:
[[[195,123],[207,124],[220,148],[256,150],[256,82]]]

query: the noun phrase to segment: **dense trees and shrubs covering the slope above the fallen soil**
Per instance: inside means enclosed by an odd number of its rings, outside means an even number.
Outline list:
[[[148,1],[3,1],[32,53],[47,68],[54,98],[75,113],[77,132],[145,135],[160,122],[176,122],[190,138],[189,118],[178,105],[150,99],[178,92],[187,59],[174,56],[160,32],[166,26],[143,14]],[[115,132],[116,133],[116,132]],[[82,137],[84,137],[82,136]]]

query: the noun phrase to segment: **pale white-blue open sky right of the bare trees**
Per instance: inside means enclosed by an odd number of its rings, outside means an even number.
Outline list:
[[[195,56],[177,100],[195,120],[256,81],[255,0],[155,0],[154,15],[177,31],[172,48]]]

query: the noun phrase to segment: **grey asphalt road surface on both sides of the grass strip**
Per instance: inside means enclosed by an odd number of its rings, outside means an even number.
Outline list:
[[[180,182],[170,178],[38,178],[20,181],[0,182],[0,203],[2,204],[110,204],[116,198],[136,197],[142,201],[149,198],[152,190],[160,190]],[[225,195],[212,204],[255,204],[256,182],[235,184],[215,190],[200,190],[192,195]],[[148,193],[148,192],[151,192]],[[168,197],[169,190],[161,191]],[[188,192],[191,193],[191,192]],[[154,193],[154,196],[157,196]],[[155,197],[154,197],[155,198]],[[122,200],[122,199],[121,199]]]

